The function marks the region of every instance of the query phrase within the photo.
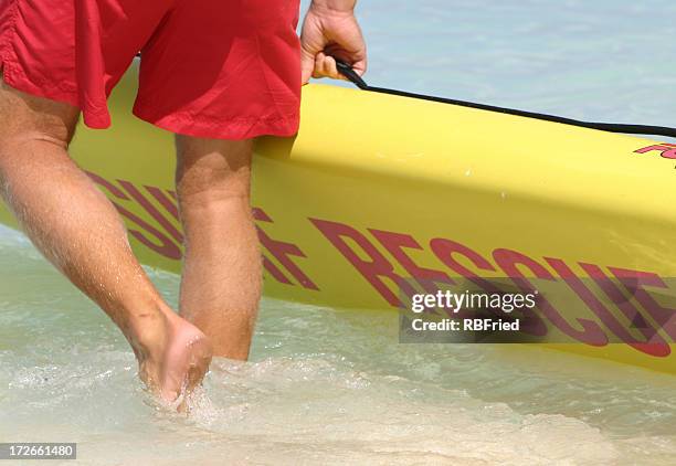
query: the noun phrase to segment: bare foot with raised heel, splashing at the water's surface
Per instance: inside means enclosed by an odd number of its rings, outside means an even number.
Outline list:
[[[163,401],[175,402],[200,384],[209,369],[212,349],[204,333],[169,311],[136,356],[139,377],[148,389]]]

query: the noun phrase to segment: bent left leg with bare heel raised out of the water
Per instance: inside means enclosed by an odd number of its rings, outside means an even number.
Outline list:
[[[35,246],[120,328],[141,379],[173,400],[204,375],[209,343],[162,301],[115,208],[70,159],[77,116],[0,81],[0,192]]]

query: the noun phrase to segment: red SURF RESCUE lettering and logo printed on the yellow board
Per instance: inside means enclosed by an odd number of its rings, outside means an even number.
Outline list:
[[[638,153],[649,151],[661,151],[663,157],[676,159],[676,145],[661,144],[636,150]],[[123,190],[118,186],[95,173],[89,172],[88,174],[94,182],[108,192],[118,212],[133,224],[133,227],[129,229],[129,234],[133,237],[165,257],[171,260],[181,258],[180,243],[182,242],[182,234],[176,224],[172,223],[172,221],[176,222],[179,219],[176,193],[173,191],[165,191],[156,187],[145,186],[145,190],[150,194],[150,198],[148,198],[140,189],[128,181],[117,180],[124,188]],[[151,202],[152,200],[155,203]],[[120,203],[119,201],[124,202]],[[125,209],[123,206],[125,202],[134,202],[141,206],[163,231],[152,226],[140,216]],[[260,222],[272,222],[272,219],[261,209],[254,209],[253,214]],[[437,290],[435,284],[454,284],[454,275],[450,275],[446,271],[436,269],[434,267],[422,267],[405,252],[406,248],[424,251],[424,247],[410,234],[376,229],[369,230],[373,237],[395,260],[395,262],[390,262],[376,246],[378,243],[371,243],[363,234],[350,225],[327,220],[309,220],[392,306],[402,306],[402,301],[400,300],[401,295],[395,293],[403,293],[409,296],[416,293],[406,278],[394,272],[395,265],[401,265],[427,293]],[[277,263],[285,268],[285,272],[293,276],[293,278],[305,288],[318,289],[318,286],[292,260],[292,256],[306,257],[297,245],[273,240],[261,226],[257,225],[256,229],[263,247],[276,258]],[[494,283],[477,275],[478,271],[497,272],[497,268],[477,252],[463,244],[440,237],[430,241],[430,248],[439,261],[450,271],[458,274],[461,277],[472,280],[487,293],[500,293],[500,289]],[[458,256],[464,257],[464,260],[458,260]],[[547,280],[558,279],[540,263],[516,251],[498,248],[493,252],[493,258],[496,261],[499,268],[526,293],[532,293],[535,288],[526,276],[520,273],[519,266],[527,267],[537,278]],[[547,264],[568,284],[582,303],[587,305],[591,313],[593,313],[593,316],[599,319],[590,320],[578,318],[577,322],[581,326],[581,329],[574,328],[543,296],[540,296],[538,306],[542,315],[562,332],[588,345],[604,346],[608,342],[608,337],[599,325],[602,324],[616,335],[617,338],[638,351],[654,357],[665,357],[670,353],[669,345],[664,340],[663,336],[659,335],[658,330],[664,329],[670,339],[676,339],[676,308],[661,305],[655,299],[655,295],[645,289],[646,287],[668,288],[657,274],[608,267],[620,280],[626,292],[635,297],[636,301],[640,304],[638,306],[634,305],[626,293],[623,293],[623,290],[620,289],[620,287],[617,287],[598,265],[580,263],[582,269],[594,279],[596,285],[599,285],[612,303],[617,306],[629,321],[641,331],[645,341],[638,341],[629,331],[629,327],[623,325],[616,316],[613,315],[611,309],[582,283],[562,260],[545,257],[545,261],[547,261]],[[471,264],[469,267],[464,265],[467,263]],[[263,264],[265,269],[276,280],[294,285],[283,269],[270,261],[265,255],[263,255]],[[392,284],[397,286],[397,289],[391,286]],[[637,307],[645,308],[644,314],[642,314]],[[527,331],[532,335],[547,333],[547,326],[540,315],[536,313],[527,314],[529,313],[528,309],[522,309],[522,311],[525,315],[524,324]],[[645,316],[649,316],[659,327],[655,328],[653,322],[646,320]]]

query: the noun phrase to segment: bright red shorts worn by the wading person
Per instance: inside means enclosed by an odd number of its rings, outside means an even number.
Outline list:
[[[110,125],[106,99],[141,52],[134,114],[245,139],[298,128],[298,0],[0,0],[4,82]]]

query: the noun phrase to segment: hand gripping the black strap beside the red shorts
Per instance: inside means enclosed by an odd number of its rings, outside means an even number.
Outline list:
[[[367,53],[355,18],[357,0],[313,0],[303,23],[300,53],[303,84],[313,77],[341,78],[334,56],[362,75]]]

